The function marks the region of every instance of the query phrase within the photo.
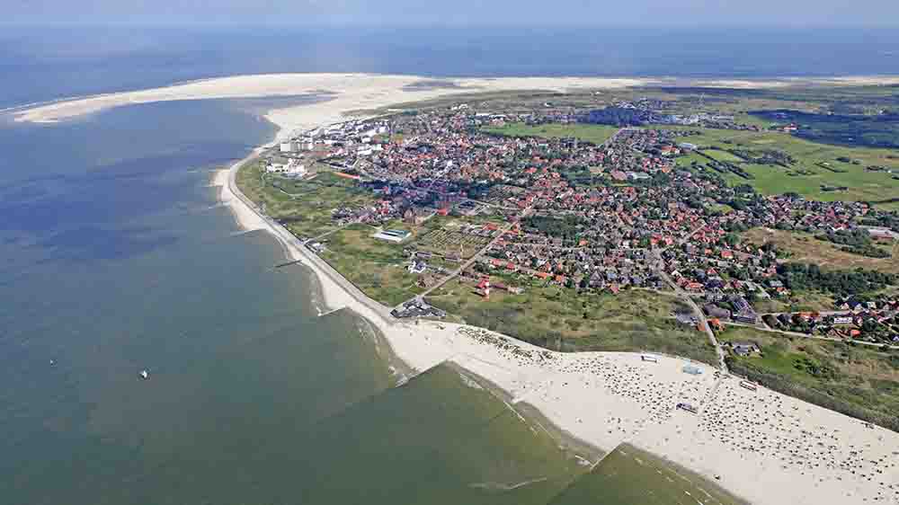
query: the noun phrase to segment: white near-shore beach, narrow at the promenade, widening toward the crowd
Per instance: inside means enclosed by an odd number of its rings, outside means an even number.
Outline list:
[[[510,407],[518,405],[529,417],[536,414],[547,421],[558,438],[572,440],[571,447],[610,453],[622,443],[632,444],[752,503],[811,505],[834,497],[847,503],[899,503],[899,489],[886,494],[871,480],[873,472],[886,469],[878,478],[899,483],[899,467],[865,463],[899,455],[899,434],[894,432],[867,428],[861,421],[761,386],[756,393],[748,392],[738,378],[718,380],[716,369],[707,365],[700,365],[702,375],[688,376],[681,372],[684,359],[660,356],[659,363],[652,364],[642,362],[638,353],[565,354],[464,324],[393,319],[387,307],[307,251],[237,187],[238,170],[282,135],[283,129],[270,143],[216,174],[212,183],[221,186],[219,199],[227,203],[238,226],[265,230],[287,258],[312,271],[325,313],[351,310],[379,333],[390,356],[412,374],[445,362],[458,366],[495,385]],[[700,415],[674,409],[679,401],[701,405]],[[752,445],[746,445],[747,439]],[[822,445],[825,439],[830,445]],[[827,458],[840,463],[820,469]]]

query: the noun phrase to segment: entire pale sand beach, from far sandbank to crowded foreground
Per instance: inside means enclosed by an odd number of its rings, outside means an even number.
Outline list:
[[[564,91],[646,82],[454,79],[452,88],[410,91],[406,87],[421,80],[396,75],[230,77],[53,103],[22,111],[17,120],[64,120],[128,103],[335,93],[328,102],[267,114],[281,128],[277,141],[300,128],[342,120],[344,111],[398,102],[503,89]],[[221,187],[219,197],[231,208],[237,225],[271,233],[290,258],[315,273],[328,309],[347,308],[368,320],[409,368],[423,371],[452,361],[502,387],[512,404],[527,403],[538,409],[577,439],[605,451],[629,442],[703,474],[752,503],[899,504],[899,434],[895,432],[868,427],[761,387],[750,391],[740,386],[738,378],[717,377],[716,369],[706,365],[697,365],[702,370],[699,375],[684,373],[687,362],[682,359],[660,356],[657,362],[649,362],[633,353],[558,353],[465,325],[396,321],[385,307],[365,297],[240,193],[236,173],[252,156],[218,172],[213,181]],[[680,402],[697,406],[699,412],[677,409]]]

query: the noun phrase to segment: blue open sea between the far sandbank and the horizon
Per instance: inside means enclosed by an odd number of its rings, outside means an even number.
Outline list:
[[[880,75],[888,29],[6,27],[0,108],[221,75]]]

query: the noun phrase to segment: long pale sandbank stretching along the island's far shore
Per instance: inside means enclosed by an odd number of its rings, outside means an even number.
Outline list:
[[[438,86],[411,84],[441,84]],[[451,84],[451,85],[446,85]],[[899,84],[899,75],[841,75],[826,77],[681,78],[659,77],[431,77],[386,74],[261,74],[213,77],[168,86],[24,105],[12,112],[17,122],[53,123],[115,107],[149,102],[223,98],[263,98],[334,93],[328,105],[293,106],[265,114],[281,127],[280,137],[297,129],[311,129],[343,120],[346,111],[377,109],[388,104],[421,102],[464,93],[504,91],[601,90],[647,85],[691,84],[742,89],[782,88],[794,85]]]

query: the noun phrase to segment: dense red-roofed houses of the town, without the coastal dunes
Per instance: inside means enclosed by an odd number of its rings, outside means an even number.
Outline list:
[[[616,107],[633,112],[651,105]],[[871,226],[881,211],[861,201],[763,196],[747,184],[725,182],[722,173],[739,170],[680,163],[697,149],[686,141],[698,133],[690,125],[743,128],[721,115],[650,115],[662,124],[607,127],[610,133],[599,143],[504,133],[576,125],[585,117],[597,115],[551,108],[477,111],[463,103],[349,121],[281,144],[266,170],[315,177],[315,167],[322,167],[368,191],[366,205],[334,208],[334,225],[372,226],[374,239],[402,245],[404,268],[415,277],[409,293],[415,303],[449,279],[466,282],[484,299],[491,292],[522,292],[534,282],[611,296],[645,289],[672,292],[701,307],[694,324],[702,329],[708,318],[709,331],[743,324],[899,342],[897,297],[884,290],[895,276],[850,272],[860,288],[831,286],[814,277],[817,270],[796,270],[776,244],[743,236],[770,229],[833,244],[850,244],[851,237],[853,246],[858,242],[867,248],[863,252],[877,253],[877,245],[895,244],[897,236],[888,227]],[[413,233],[418,228],[428,233]],[[316,253],[327,251],[328,238],[317,237],[314,245]],[[797,290],[808,288],[829,293],[831,306],[795,307]],[[871,295],[878,291],[884,294]],[[397,314],[417,313],[407,308]]]

